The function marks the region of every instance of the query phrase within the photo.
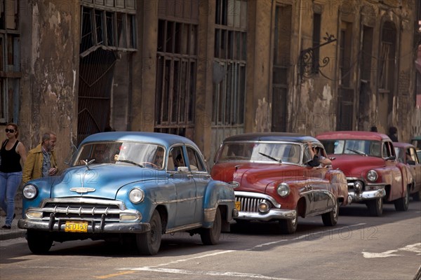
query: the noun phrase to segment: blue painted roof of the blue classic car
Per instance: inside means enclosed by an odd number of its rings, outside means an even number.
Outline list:
[[[95,141],[140,141],[156,143],[166,147],[173,146],[174,144],[188,144],[199,150],[196,144],[186,137],[159,132],[100,132],[89,135],[83,139],[81,144]]]

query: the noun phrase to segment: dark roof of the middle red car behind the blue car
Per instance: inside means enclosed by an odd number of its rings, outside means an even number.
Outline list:
[[[305,136],[302,134],[294,134],[287,132],[255,132],[238,134],[227,137],[224,142],[229,141],[287,141],[287,142],[319,142],[314,137]]]

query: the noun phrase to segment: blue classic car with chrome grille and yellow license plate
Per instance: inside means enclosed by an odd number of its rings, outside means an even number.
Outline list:
[[[87,137],[60,176],[29,181],[22,219],[33,253],[53,241],[122,239],[158,253],[165,233],[199,233],[217,244],[233,216],[234,190],[214,181],[199,148],[185,137],[105,132]]]

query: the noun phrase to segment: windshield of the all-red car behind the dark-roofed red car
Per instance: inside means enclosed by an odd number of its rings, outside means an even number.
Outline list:
[[[381,158],[382,142],[370,140],[321,140],[328,154],[370,155]]]

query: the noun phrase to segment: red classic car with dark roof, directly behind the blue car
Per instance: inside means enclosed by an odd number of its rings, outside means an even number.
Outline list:
[[[309,143],[326,156],[317,139],[298,134],[240,134],[222,142],[211,175],[234,186],[236,221],[279,221],[287,234],[297,229],[298,216],[338,222],[338,207],[349,199],[345,174],[311,167]]]

